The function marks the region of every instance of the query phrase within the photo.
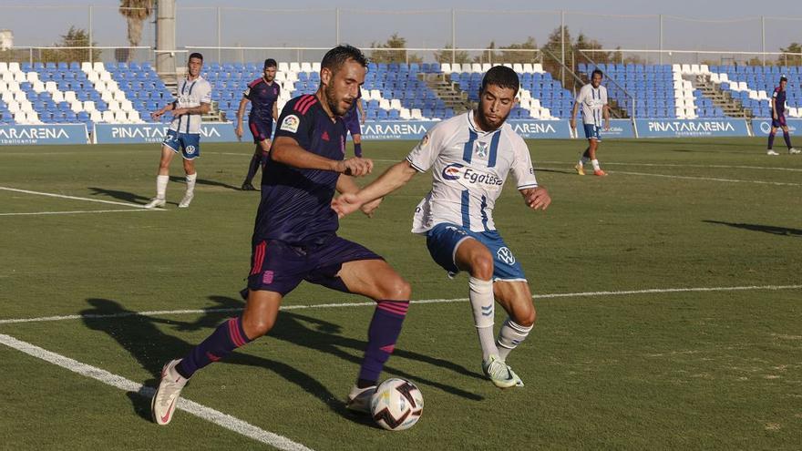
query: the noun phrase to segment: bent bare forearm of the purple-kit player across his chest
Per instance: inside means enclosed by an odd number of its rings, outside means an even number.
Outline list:
[[[275,138],[271,149],[274,161],[299,169],[321,169],[362,177],[373,170],[372,159],[327,159],[303,149],[294,138]]]

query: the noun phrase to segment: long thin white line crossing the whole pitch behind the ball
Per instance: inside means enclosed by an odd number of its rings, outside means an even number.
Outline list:
[[[536,294],[532,296],[533,299],[552,299],[552,298],[585,298],[585,297],[600,297],[600,296],[623,296],[629,294],[663,294],[670,292],[741,292],[751,290],[800,290],[802,285],[749,285],[749,286],[736,286],[736,287],[691,287],[691,288],[650,288],[646,290],[624,290],[615,292],[555,292],[546,294]],[[421,299],[411,301],[411,303],[449,303],[449,302],[466,302],[468,298],[456,299]],[[373,306],[375,302],[337,302],[337,303],[320,303],[308,305],[283,305],[281,310],[302,310],[302,309],[325,309],[325,308],[343,308],[343,307],[365,307]],[[127,313],[108,313],[108,314],[69,314],[61,316],[41,316],[37,318],[15,318],[0,320],[0,324],[14,324],[14,323],[44,323],[53,321],[67,321],[67,320],[83,320],[83,319],[98,319],[98,318],[125,318],[129,316],[163,316],[163,315],[181,315],[181,314],[200,314],[200,313],[225,313],[225,312],[239,312],[242,311],[241,307],[231,308],[218,308],[218,309],[193,309],[193,310],[157,310],[146,312],[127,312]]]

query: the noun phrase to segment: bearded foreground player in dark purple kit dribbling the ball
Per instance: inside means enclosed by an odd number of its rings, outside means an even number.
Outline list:
[[[336,235],[334,190],[356,192],[348,176],[363,176],[373,169],[369,159],[344,159],[342,116],[365,82],[366,66],[359,49],[336,46],[323,58],[317,92],[295,97],[284,106],[263,168],[245,310],[222,323],[183,359],[164,366],[151,403],[157,424],[170,423],[192,374],[270,331],[283,296],[303,281],[376,302],[365,358],[346,402],[352,410],[369,411],[376,381],[401,332],[410,288],[380,256]],[[370,213],[377,205],[366,205],[363,211]]]

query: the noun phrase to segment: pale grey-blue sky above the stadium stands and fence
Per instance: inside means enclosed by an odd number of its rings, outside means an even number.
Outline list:
[[[326,47],[336,41],[356,46],[384,42],[393,33],[406,38],[409,47],[442,47],[456,38],[458,47],[483,48],[525,41],[529,36],[541,45],[560,26],[560,6],[572,35],[583,33],[604,46],[673,50],[728,50],[760,52],[764,46],[761,16],[766,16],[766,51],[777,51],[790,42],[802,42],[802,2],[775,0],[770,7],[754,1],[631,0],[555,2],[508,0],[499,5],[487,1],[431,2],[343,0],[193,0],[177,2],[178,46],[300,46]],[[99,46],[127,45],[125,22],[117,1],[0,0],[0,29],[11,29],[15,46],[47,46],[67,28],[88,28],[92,8],[92,32]],[[26,7],[21,7],[25,5]],[[60,7],[43,7],[59,5]],[[268,11],[266,5],[285,8]],[[402,7],[403,6],[403,7]],[[491,8],[501,6],[503,9]],[[218,7],[220,28],[218,35]],[[340,9],[339,30],[334,9]],[[452,27],[451,10],[456,10]],[[394,13],[390,13],[394,12]],[[684,18],[682,18],[684,17]],[[774,17],[774,18],[771,18]],[[691,20],[689,20],[691,19]],[[154,43],[154,26],[145,28],[144,45]],[[207,50],[208,51],[208,50]],[[231,53],[231,56],[234,56]],[[229,58],[231,59],[231,58]]]

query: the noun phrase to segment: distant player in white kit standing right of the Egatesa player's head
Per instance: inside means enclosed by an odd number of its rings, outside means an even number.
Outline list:
[[[602,71],[593,70],[591,83],[580,89],[580,94],[573,104],[571,110],[571,128],[576,129],[577,109],[582,106],[582,124],[585,128],[585,138],[588,138],[588,149],[585,149],[580,161],[574,167],[577,174],[585,175],[585,163],[588,161],[593,165],[593,175],[606,176],[607,172],[599,166],[596,159],[596,150],[602,142],[602,118],[604,119],[604,129],[610,129],[610,107],[607,105],[607,88],[602,87]]]

